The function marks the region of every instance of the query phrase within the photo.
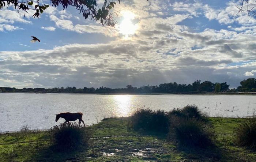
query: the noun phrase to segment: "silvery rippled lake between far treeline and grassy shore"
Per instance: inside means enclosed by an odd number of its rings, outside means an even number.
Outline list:
[[[198,105],[211,117],[248,117],[256,114],[256,95],[97,95],[0,93],[0,131],[48,129],[55,114],[82,112],[86,125],[106,117],[130,116],[137,108],[172,110]]]

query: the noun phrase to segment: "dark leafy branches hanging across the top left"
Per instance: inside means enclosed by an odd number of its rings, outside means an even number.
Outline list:
[[[34,8],[33,2],[37,3]],[[118,0],[118,3],[120,2],[121,0]],[[49,7],[48,4],[39,5],[40,0],[0,0],[0,9],[5,6],[8,7],[10,4],[13,4],[18,12],[19,10],[22,10],[23,12],[35,10],[35,14],[33,15],[34,18],[39,18],[40,14]],[[107,25],[115,27],[116,25],[116,20],[113,18],[113,14],[116,14],[116,12],[110,13],[110,10],[116,5],[116,2],[113,1],[104,0],[102,7],[98,6],[97,0],[50,0],[50,4],[52,4],[53,7],[62,5],[63,10],[68,6],[75,7],[85,19],[91,17],[92,20],[99,21],[103,26]]]

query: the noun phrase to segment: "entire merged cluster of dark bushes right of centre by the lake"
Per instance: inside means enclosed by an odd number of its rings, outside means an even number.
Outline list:
[[[196,105],[183,109],[163,110],[138,109],[132,116],[135,129],[167,133],[167,139],[190,147],[208,147],[215,141],[214,129],[206,122],[207,117]]]

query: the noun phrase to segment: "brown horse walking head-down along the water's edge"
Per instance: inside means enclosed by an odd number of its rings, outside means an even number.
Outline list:
[[[65,124],[67,122],[68,122],[68,124],[70,124],[69,121],[75,121],[78,119],[79,126],[80,126],[81,121],[83,122],[82,116],[83,116],[83,113],[60,113],[60,114],[56,114],[55,121],[57,122],[59,120],[59,118],[62,117],[65,119],[65,122],[63,124]],[[83,125],[85,127],[84,122],[83,122]]]

